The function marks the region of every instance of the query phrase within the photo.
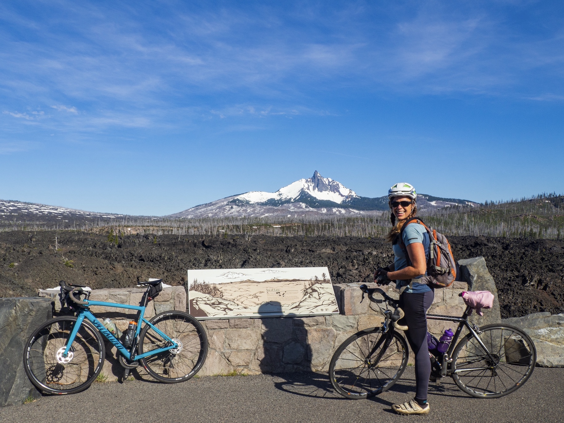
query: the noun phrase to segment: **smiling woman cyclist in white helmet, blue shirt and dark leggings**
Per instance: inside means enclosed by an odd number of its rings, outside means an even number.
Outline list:
[[[407,219],[417,213],[417,193],[411,184],[400,182],[388,191],[392,228],[386,241],[392,243],[394,263],[374,272],[374,281],[387,285],[395,280],[400,290],[399,306],[404,311],[408,327],[407,340],[415,354],[415,398],[403,404],[393,404],[392,409],[401,415],[427,414],[431,362],[427,346],[426,312],[433,303],[434,291],[429,285],[417,283],[426,274],[429,257],[429,234],[418,223],[409,223],[400,239],[400,231]],[[407,257],[406,257],[407,253]]]

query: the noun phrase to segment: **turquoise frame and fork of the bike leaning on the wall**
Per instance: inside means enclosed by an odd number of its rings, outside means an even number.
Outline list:
[[[153,331],[158,333],[158,335],[161,336],[164,340],[170,342],[171,345],[169,345],[168,347],[158,348],[156,350],[143,352],[143,354],[139,354],[139,355],[136,355],[135,351],[129,352],[127,351],[126,347],[116,337],[113,336],[113,333],[108,331],[108,329],[106,329],[104,325],[100,323],[98,319],[96,319],[96,316],[92,314],[92,312],[88,309],[88,307],[90,306],[116,307],[117,309],[137,310],[139,311],[139,319],[138,319],[137,329],[135,331],[135,338],[137,339],[141,331],[140,323],[144,322],[146,325],[149,325],[151,329],[153,329]],[[98,331],[100,331],[107,338],[107,340],[110,341],[117,348],[117,350],[120,351],[121,354],[124,355],[125,358],[130,361],[136,361],[145,358],[149,355],[159,354],[160,352],[168,351],[178,347],[176,342],[171,340],[168,336],[166,336],[166,334],[159,331],[154,325],[149,323],[147,319],[143,318],[143,315],[145,314],[145,308],[146,307],[143,306],[130,306],[129,304],[118,304],[113,302],[87,301],[87,305],[81,307],[80,311],[78,311],[78,318],[76,323],[74,324],[72,332],[70,332],[70,337],[67,342],[67,348],[65,349],[64,356],[67,356],[70,350],[70,346],[74,342],[74,338],[76,337],[76,334],[78,333],[78,330],[80,329],[82,325],[82,321],[84,319],[90,320],[90,322],[96,327],[96,329],[98,329]]]

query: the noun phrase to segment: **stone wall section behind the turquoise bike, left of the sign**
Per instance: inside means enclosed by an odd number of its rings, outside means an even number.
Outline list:
[[[90,294],[92,301],[116,302],[138,306],[146,288],[114,288],[93,289]],[[47,297],[55,302],[55,311],[61,309],[59,293],[51,290],[39,290],[39,297]],[[136,316],[135,310],[118,309],[116,307],[91,306],[90,310],[99,318],[112,319],[118,329],[124,332],[129,321]],[[150,320],[153,316],[168,310],[186,311],[186,290],[184,287],[164,288],[160,294],[148,303],[144,317]],[[124,373],[124,368],[117,361],[117,349],[111,342],[105,342],[105,362],[102,373],[107,381],[117,381]]]

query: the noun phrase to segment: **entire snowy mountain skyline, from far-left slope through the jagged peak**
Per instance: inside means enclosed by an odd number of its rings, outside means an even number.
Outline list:
[[[67,209],[44,204],[0,200],[0,227],[16,224],[40,224],[47,227],[80,228],[90,223],[132,224],[161,218],[204,217],[287,217],[369,215],[388,210],[387,196],[369,198],[357,195],[350,188],[331,178],[323,178],[318,171],[311,178],[299,179],[276,192],[250,191],[209,202],[169,216],[131,216],[113,213]],[[478,205],[473,201],[444,199],[418,194],[420,210],[438,209],[452,205]],[[143,223],[146,224],[146,223]]]

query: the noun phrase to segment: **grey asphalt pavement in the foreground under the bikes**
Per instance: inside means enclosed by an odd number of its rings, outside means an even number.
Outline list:
[[[390,406],[413,398],[409,367],[373,399],[338,396],[319,373],[209,376],[182,384],[147,380],[95,383],[79,394],[43,396],[0,408],[2,422],[564,422],[564,368],[536,368],[530,380],[499,399],[470,398],[448,379],[431,385],[426,416],[398,416]]]

